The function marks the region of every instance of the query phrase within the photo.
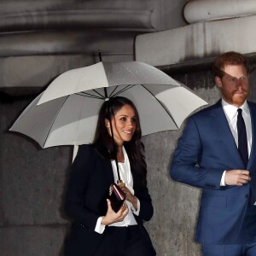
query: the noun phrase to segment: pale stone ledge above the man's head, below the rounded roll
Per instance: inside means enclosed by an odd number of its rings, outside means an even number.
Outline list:
[[[138,35],[136,60],[153,66],[207,61],[225,51],[256,52],[256,15],[198,22],[176,29]]]

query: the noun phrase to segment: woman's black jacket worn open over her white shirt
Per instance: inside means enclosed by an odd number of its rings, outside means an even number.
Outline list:
[[[106,148],[102,145],[82,145],[71,166],[70,183],[67,189],[65,212],[73,218],[74,225],[67,240],[66,255],[93,255],[103,234],[96,233],[96,221],[107,212],[109,185],[114,182],[111,161],[104,157]],[[133,189],[140,201],[137,224],[143,230],[143,220],[153,216],[153,206],[147,187],[142,186],[142,178],[134,172],[131,163]],[[103,206],[103,207],[102,207]],[[108,229],[108,227],[107,227]],[[150,241],[150,240],[149,240]]]

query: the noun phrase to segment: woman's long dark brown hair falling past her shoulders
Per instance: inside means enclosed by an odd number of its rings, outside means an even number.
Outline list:
[[[125,142],[125,150],[129,156],[129,160],[131,161],[131,165],[135,169],[135,171],[141,175],[143,185],[146,185],[146,176],[147,176],[147,166],[144,157],[144,145],[141,141],[142,131],[141,125],[139,121],[139,116],[137,113],[137,108],[131,100],[123,97],[123,96],[115,96],[109,98],[108,101],[105,101],[102,104],[102,108],[100,109],[98,115],[98,122],[96,126],[96,135],[94,138],[94,143],[102,142],[104,146],[108,149],[109,157],[111,160],[115,159],[117,154],[116,148],[113,147],[113,138],[109,135],[108,129],[105,125],[105,120],[108,119],[111,121],[113,116],[125,105],[130,105],[131,108],[134,109],[135,112],[135,122],[136,122],[136,130],[131,138],[130,142]]]

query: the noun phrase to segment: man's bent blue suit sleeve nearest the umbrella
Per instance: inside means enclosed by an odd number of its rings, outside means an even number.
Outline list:
[[[170,175],[177,182],[199,188],[220,189],[224,169],[212,168],[211,161],[214,158],[211,159],[211,154],[204,154],[203,150],[211,152],[211,145],[203,142],[201,130],[192,116],[188,119],[183,136],[178,140]],[[207,165],[204,164],[206,161]]]

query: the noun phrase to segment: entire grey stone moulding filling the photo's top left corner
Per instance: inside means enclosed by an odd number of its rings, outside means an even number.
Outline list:
[[[154,1],[3,0],[0,32],[60,27],[152,30],[152,3]]]

